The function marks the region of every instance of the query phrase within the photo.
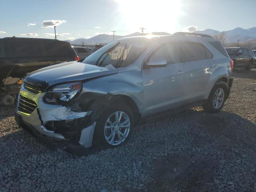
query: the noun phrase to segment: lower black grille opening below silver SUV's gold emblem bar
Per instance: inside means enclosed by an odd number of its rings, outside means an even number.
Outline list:
[[[24,97],[22,95],[19,96],[18,111],[30,115],[36,108],[37,104],[34,100]]]

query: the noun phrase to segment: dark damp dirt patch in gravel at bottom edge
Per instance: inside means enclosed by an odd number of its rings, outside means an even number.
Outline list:
[[[214,163],[201,154],[163,156],[148,170],[154,180],[146,184],[148,192],[217,192],[214,184]],[[145,189],[144,189],[145,191]]]

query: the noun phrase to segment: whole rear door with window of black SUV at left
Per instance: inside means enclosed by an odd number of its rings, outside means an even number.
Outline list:
[[[11,39],[8,41],[10,76],[22,78],[28,72],[43,68],[48,61],[42,56],[42,44],[36,39]]]

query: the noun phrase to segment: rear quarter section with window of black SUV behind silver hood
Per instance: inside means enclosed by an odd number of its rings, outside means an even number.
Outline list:
[[[76,52],[68,42],[46,40],[44,41],[44,48],[49,65],[75,60]]]

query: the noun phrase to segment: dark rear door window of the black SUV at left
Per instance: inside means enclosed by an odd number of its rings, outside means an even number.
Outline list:
[[[10,57],[42,56],[40,43],[36,40],[12,40],[9,42]]]

